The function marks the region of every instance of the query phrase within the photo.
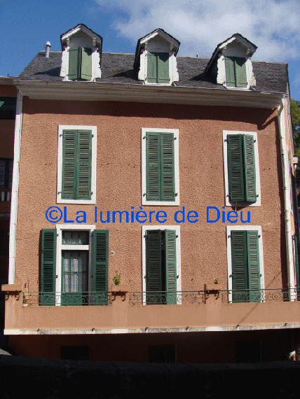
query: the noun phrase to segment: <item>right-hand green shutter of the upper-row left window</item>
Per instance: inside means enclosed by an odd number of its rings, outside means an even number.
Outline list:
[[[92,162],[92,131],[79,130],[77,144],[77,170],[76,170],[76,192],[77,198],[90,200],[90,180]]]

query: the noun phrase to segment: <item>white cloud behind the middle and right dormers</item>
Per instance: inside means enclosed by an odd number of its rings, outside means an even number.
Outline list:
[[[258,46],[254,59],[299,57],[299,0],[95,0],[102,10],[121,10],[111,26],[132,43],[161,27],[182,44],[179,55],[210,57],[217,43],[238,32]],[[118,14],[115,14],[118,15]]]

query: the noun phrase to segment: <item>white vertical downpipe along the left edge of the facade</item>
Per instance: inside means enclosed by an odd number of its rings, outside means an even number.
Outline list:
[[[13,185],[11,188],[11,225],[9,231],[8,284],[15,283],[15,243],[16,243],[17,213],[18,213],[22,108],[23,108],[23,96],[18,91],[17,109],[15,111],[15,145],[13,148]]]

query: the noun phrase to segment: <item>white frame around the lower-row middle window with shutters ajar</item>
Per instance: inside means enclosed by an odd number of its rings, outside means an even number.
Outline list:
[[[142,226],[142,290],[146,292],[146,230],[175,230],[176,232],[176,272],[177,272],[177,286],[176,290],[182,290],[182,262],[181,262],[181,248],[180,248],[180,226],[165,226],[165,225],[143,225]],[[177,304],[181,304],[181,299],[177,295]],[[143,299],[143,304],[146,304]]]

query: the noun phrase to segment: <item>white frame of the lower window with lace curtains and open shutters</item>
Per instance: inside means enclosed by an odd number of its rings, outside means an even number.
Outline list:
[[[95,225],[56,225],[56,281],[55,281],[55,292],[62,292],[62,251],[88,251],[88,291],[93,290],[92,274],[93,270],[93,253],[92,253],[92,233],[95,230]],[[76,244],[62,244],[62,231],[64,230],[82,230],[89,232],[89,244],[88,245],[76,245]],[[60,297],[57,298],[57,306],[60,306]]]

